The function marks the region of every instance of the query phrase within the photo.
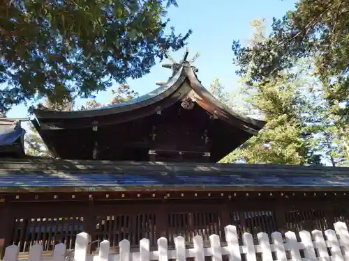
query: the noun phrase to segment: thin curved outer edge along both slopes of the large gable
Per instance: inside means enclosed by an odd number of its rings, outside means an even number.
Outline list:
[[[197,101],[199,106],[202,106],[203,109],[211,111],[211,113],[216,114],[218,118],[229,122],[235,127],[239,127],[245,132],[248,132],[252,135],[258,134],[260,129],[262,129],[266,122],[262,120],[255,120],[253,118],[248,118],[242,116],[239,113],[235,113],[228,106],[225,106],[223,103],[218,101],[209,91],[202,86],[198,77],[196,76],[193,68],[182,66],[177,73],[175,73],[166,84],[163,84],[156,90],[142,95],[137,99],[130,100],[128,102],[123,102],[120,104],[112,104],[110,106],[105,106],[101,109],[94,109],[88,111],[50,111],[45,109],[36,109],[34,111],[36,118],[40,121],[45,119],[77,119],[77,118],[91,118],[98,116],[107,116],[117,113],[124,113],[127,111],[133,111],[135,109],[141,109],[145,106],[149,106],[158,101],[169,97],[174,93],[182,83],[188,79],[190,82],[191,88],[194,92],[200,97],[201,101]]]

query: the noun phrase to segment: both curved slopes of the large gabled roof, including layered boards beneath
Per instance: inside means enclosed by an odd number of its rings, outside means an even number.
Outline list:
[[[239,115],[218,101],[202,86],[195,74],[195,70],[193,66],[182,63],[163,86],[153,90],[151,93],[129,102],[113,104],[101,109],[87,111],[34,109],[38,120],[38,122],[34,122],[34,125],[38,127],[39,132],[40,129],[91,127],[96,121],[98,121],[98,125],[103,125],[103,122],[105,122],[105,125],[109,125],[134,120],[137,117],[149,116],[183,100],[184,97],[190,96],[196,104],[211,113],[212,116],[224,120],[251,135],[257,134],[264,127],[264,121]],[[184,84],[184,82],[188,83],[188,85]],[[132,116],[131,113],[133,114]]]

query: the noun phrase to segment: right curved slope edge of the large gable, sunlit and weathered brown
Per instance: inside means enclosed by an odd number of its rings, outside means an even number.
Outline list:
[[[203,99],[211,102],[216,106],[218,109],[221,109],[225,113],[228,113],[230,116],[237,118],[240,122],[242,122],[246,127],[250,128],[252,127],[256,131],[259,131],[262,129],[267,122],[263,120],[257,120],[253,118],[249,118],[246,116],[242,116],[239,113],[236,113],[235,111],[232,111],[228,106],[217,100],[214,95],[211,95],[209,91],[202,86],[200,81],[198,80],[198,77],[196,77],[195,72],[191,68],[184,68],[186,77],[188,78],[189,82],[191,83],[191,87],[193,90],[195,90],[198,95],[200,95]]]

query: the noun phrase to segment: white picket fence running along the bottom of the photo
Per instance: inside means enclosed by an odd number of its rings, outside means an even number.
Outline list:
[[[99,255],[87,255],[89,235],[82,232],[77,235],[75,251],[66,251],[64,244],[57,244],[54,248],[53,258],[43,258],[41,245],[31,246],[28,261],[186,261],[186,258],[195,258],[195,261],[205,261],[205,257],[211,257],[212,261],[223,261],[224,255],[229,261],[242,261],[242,254],[246,255],[246,261],[257,261],[256,253],[262,253],[262,261],[273,261],[276,254],[278,261],[349,261],[349,232],[346,223],[337,222],[335,230],[326,230],[325,238],[320,230],[313,232],[301,231],[297,242],[295,232],[286,232],[283,239],[280,232],[271,235],[272,244],[266,233],[258,233],[259,244],[254,244],[253,237],[244,233],[243,244],[239,246],[237,229],[235,226],[225,227],[225,239],[227,246],[221,246],[218,235],[209,237],[210,246],[204,247],[202,237],[197,235],[193,238],[193,248],[186,248],[184,237],[174,239],[175,249],[168,249],[168,240],[165,237],[158,239],[158,250],[150,251],[149,239],[140,240],[140,250],[131,253],[130,242],[124,239],[119,242],[119,253],[110,254],[110,242],[101,242]],[[327,251],[329,249],[329,251]],[[304,258],[300,251],[304,253]],[[286,255],[286,251],[290,256]],[[5,251],[6,261],[17,261],[18,247],[8,246]],[[291,259],[288,259],[291,258]],[[260,258],[258,258],[260,259]]]

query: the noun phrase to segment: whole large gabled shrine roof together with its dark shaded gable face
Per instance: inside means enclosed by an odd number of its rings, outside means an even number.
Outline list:
[[[195,67],[188,63],[176,65],[165,84],[138,99],[89,111],[35,109],[34,126],[52,155],[62,159],[146,161],[148,151],[154,150],[152,146],[158,151],[163,145],[166,150],[209,152],[211,162],[219,161],[265,126],[264,121],[239,115],[216,100],[198,80]],[[193,107],[186,108],[186,103]],[[153,128],[165,135],[178,126],[181,130],[175,139],[173,133],[162,139],[156,134],[156,141],[149,138]],[[92,131],[94,127],[98,131]],[[200,143],[206,142],[201,139],[203,132],[209,139],[205,149]],[[200,137],[200,141],[189,139],[189,135]],[[170,144],[158,145],[158,141]],[[93,151],[98,157],[92,156]]]

